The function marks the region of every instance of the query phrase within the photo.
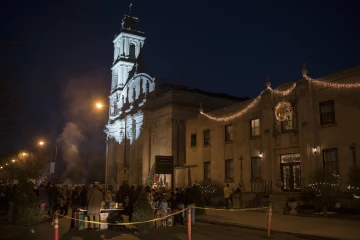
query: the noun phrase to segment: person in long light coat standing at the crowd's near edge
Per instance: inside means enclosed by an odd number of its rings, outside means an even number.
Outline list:
[[[93,184],[92,189],[89,190],[87,196],[88,210],[87,215],[90,221],[100,222],[100,209],[103,201],[102,187],[98,182]],[[90,223],[90,229],[100,229],[99,224]]]

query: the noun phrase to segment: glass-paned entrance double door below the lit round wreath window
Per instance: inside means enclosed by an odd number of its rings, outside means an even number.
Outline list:
[[[301,190],[300,153],[280,156],[281,180],[283,191],[293,192]]]

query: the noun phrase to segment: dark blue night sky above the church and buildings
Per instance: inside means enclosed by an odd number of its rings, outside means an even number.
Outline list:
[[[147,35],[149,73],[159,79],[236,96],[309,75],[360,64],[360,1],[136,0],[133,15]],[[56,142],[67,121],[82,126],[88,150],[105,155],[107,101],[114,35],[129,1],[2,1],[1,67],[10,72],[31,125],[19,128],[0,152]],[[85,114],[86,113],[86,114]],[[86,119],[84,119],[86,118]],[[92,122],[93,121],[93,122]],[[85,147],[85,149],[86,149]]]

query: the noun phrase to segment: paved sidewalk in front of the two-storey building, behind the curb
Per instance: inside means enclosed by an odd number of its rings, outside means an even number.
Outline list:
[[[268,224],[266,209],[255,211],[207,209],[206,215],[197,217],[196,221],[263,230],[267,229]],[[271,230],[297,235],[360,240],[359,222],[343,219],[312,218],[273,213]]]

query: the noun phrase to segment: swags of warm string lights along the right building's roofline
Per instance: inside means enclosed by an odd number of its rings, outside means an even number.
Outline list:
[[[307,76],[306,74],[303,74],[303,77],[308,80],[311,81],[314,84],[317,84],[319,86],[324,86],[324,87],[335,87],[335,88],[360,88],[360,83],[332,83],[332,82],[325,82],[325,81],[320,81],[320,80],[316,80],[313,79],[309,76]],[[297,83],[294,83],[290,88],[286,89],[286,90],[277,90],[277,89],[272,89],[270,86],[267,87],[267,89],[269,89],[270,91],[272,91],[274,94],[280,95],[280,96],[287,96],[289,95],[295,88],[296,88]],[[261,95],[261,94],[260,94]],[[250,108],[252,108],[259,100],[260,100],[260,95],[257,96],[248,106],[246,106],[244,109],[236,112],[233,115],[230,116],[226,116],[226,117],[215,117],[212,116],[210,114],[204,113],[202,110],[200,110],[200,114],[207,117],[208,119],[214,120],[214,121],[218,121],[218,122],[227,122],[230,120],[233,120],[235,118],[238,118],[242,115],[244,115]]]

